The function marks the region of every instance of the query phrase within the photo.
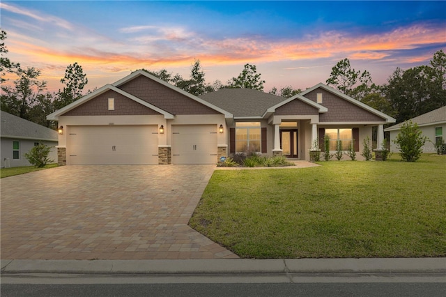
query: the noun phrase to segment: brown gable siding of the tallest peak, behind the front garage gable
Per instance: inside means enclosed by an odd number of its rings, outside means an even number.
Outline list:
[[[220,114],[144,75],[134,77],[118,88],[171,114]]]

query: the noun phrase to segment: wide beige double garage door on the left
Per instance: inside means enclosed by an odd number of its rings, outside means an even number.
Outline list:
[[[157,125],[71,126],[70,165],[158,164]]]

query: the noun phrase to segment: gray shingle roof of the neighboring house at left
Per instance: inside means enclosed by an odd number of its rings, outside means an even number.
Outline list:
[[[3,111],[1,111],[0,118],[0,134],[1,137],[52,140],[54,142],[59,139],[57,131]]]

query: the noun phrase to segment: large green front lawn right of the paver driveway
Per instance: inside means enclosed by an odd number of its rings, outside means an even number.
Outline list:
[[[446,156],[215,171],[190,226],[244,258],[446,257]]]

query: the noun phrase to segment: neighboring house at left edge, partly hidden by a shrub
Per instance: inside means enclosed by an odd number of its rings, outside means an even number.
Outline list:
[[[26,121],[19,116],[3,111],[1,111],[0,121],[1,168],[31,166],[24,154],[28,153],[33,146],[36,146],[40,141],[47,146],[57,146],[58,144],[57,132],[43,125]],[[56,148],[52,148],[49,158],[57,161]]]

